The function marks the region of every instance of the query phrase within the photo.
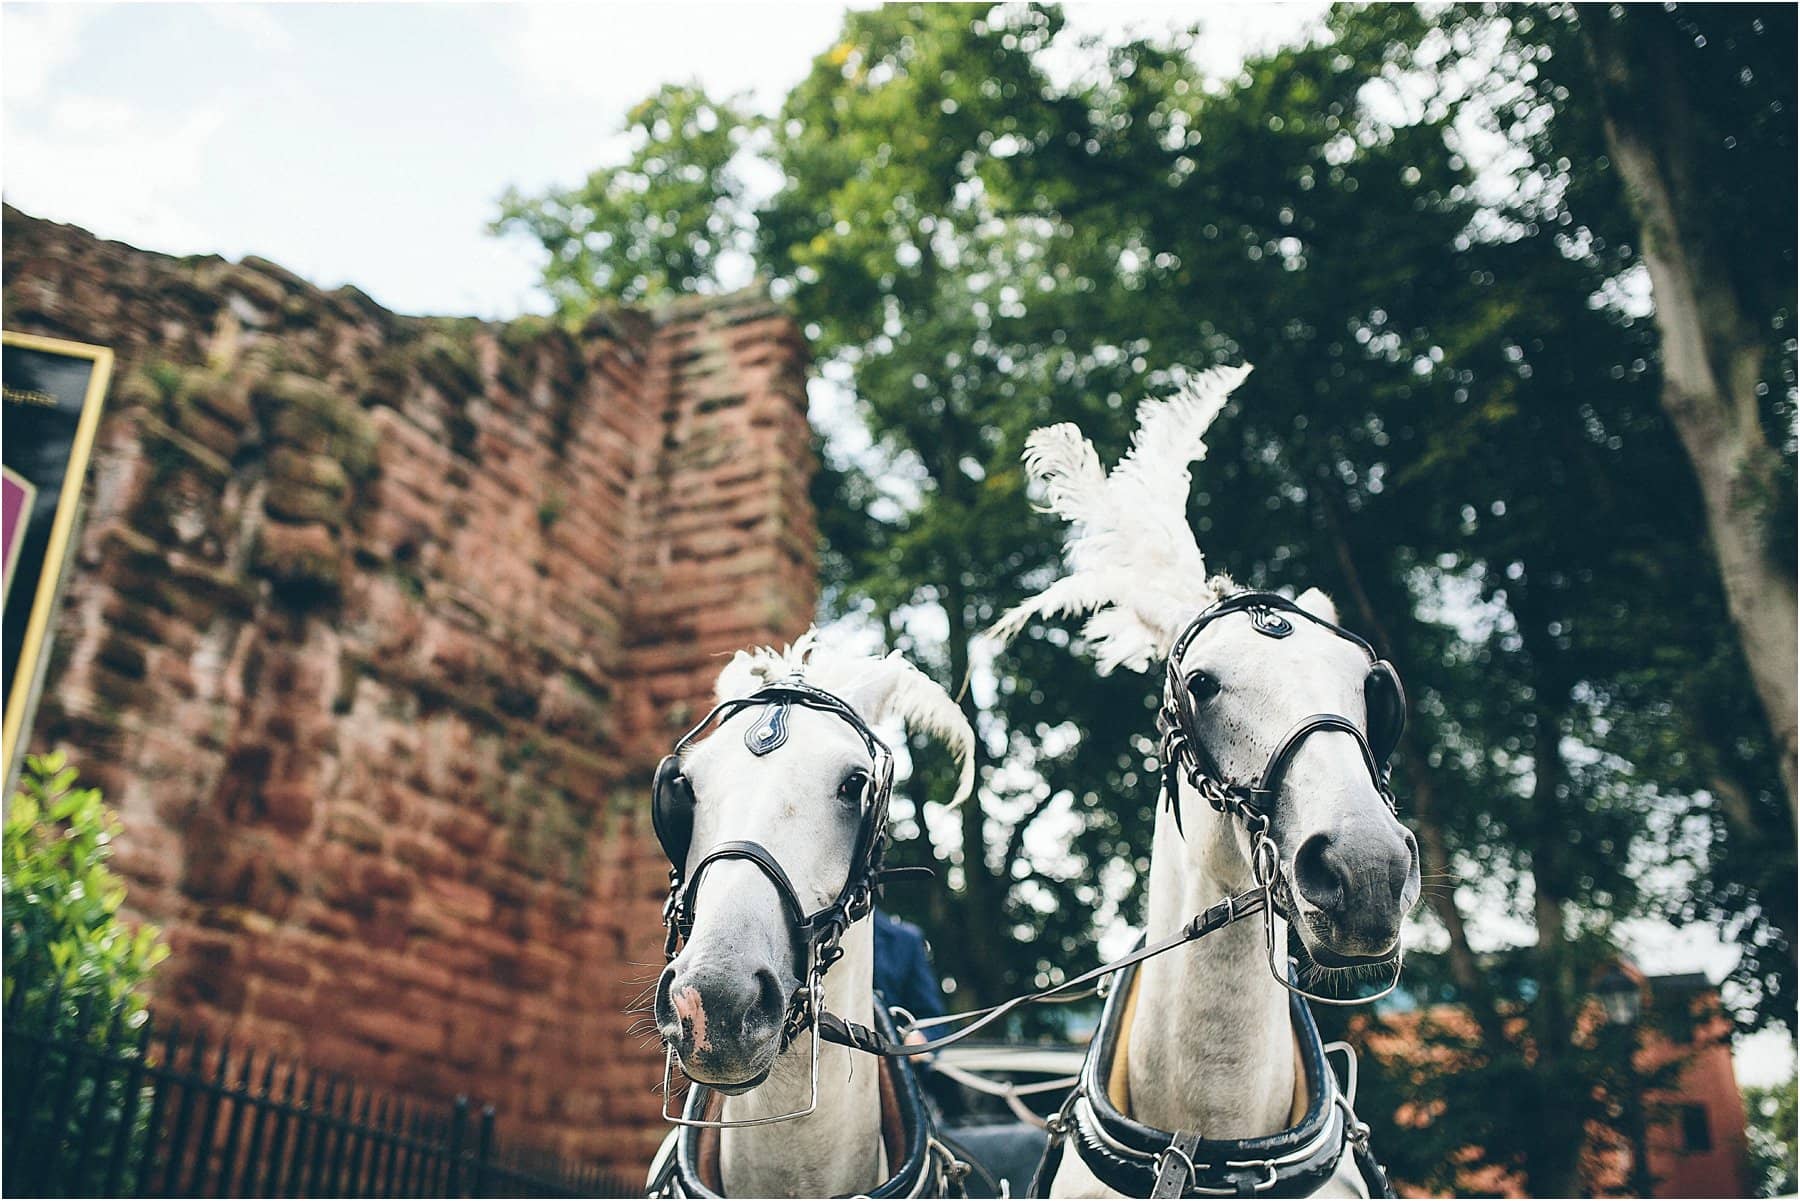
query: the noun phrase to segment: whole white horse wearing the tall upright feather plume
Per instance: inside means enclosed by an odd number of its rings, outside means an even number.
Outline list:
[[[1139,405],[1132,447],[1111,474],[1076,427],[1031,434],[1026,465],[1048,508],[1075,526],[1069,571],[992,634],[1010,639],[1037,618],[1091,614],[1084,632],[1102,673],[1166,670],[1181,641],[1165,688],[1188,695],[1165,695],[1165,704],[1179,702],[1170,713],[1184,709],[1195,729],[1181,733],[1210,763],[1204,772],[1174,772],[1177,794],[1165,792],[1159,805],[1147,940],[1181,931],[1224,897],[1273,884],[1276,908],[1298,917],[1312,962],[1307,980],[1359,969],[1399,972],[1400,922],[1420,882],[1417,844],[1386,794],[1384,758],[1404,720],[1404,700],[1388,693],[1390,684],[1399,691],[1391,668],[1377,679],[1372,652],[1336,628],[1336,612],[1316,589],[1292,609],[1282,598],[1237,610],[1228,603],[1183,637],[1202,610],[1238,592],[1228,578],[1208,574],[1188,529],[1186,499],[1188,465],[1204,457],[1208,425],[1247,373],[1213,369],[1170,400]],[[1307,727],[1309,715],[1346,720]],[[1278,756],[1291,733],[1292,745]],[[1372,742],[1386,745],[1364,754]],[[1165,742],[1165,758],[1168,751]],[[1256,798],[1273,846],[1258,852],[1258,821],[1242,819],[1258,808],[1231,812],[1231,798],[1217,805],[1211,785],[1219,780],[1273,785]],[[1265,855],[1260,873],[1258,853]],[[1246,1181],[1271,1188],[1276,1174],[1298,1170],[1301,1134],[1361,1136],[1366,1158],[1366,1127],[1348,1104],[1332,1127],[1337,1089],[1330,1071],[1321,1071],[1310,1014],[1271,971],[1280,958],[1285,974],[1287,945],[1287,920],[1269,913],[1152,958],[1120,987],[1105,1037],[1089,1052],[1084,1089],[1094,1095],[1066,1111],[1069,1143],[1082,1154],[1062,1154],[1053,1196],[1123,1196],[1120,1188],[1139,1185],[1136,1196],[1147,1196],[1163,1169],[1172,1169],[1172,1196],[1201,1192],[1208,1174],[1228,1192]],[[1109,1062],[1096,1066],[1096,1057]],[[1150,1133],[1132,1131],[1130,1122]],[[1165,1134],[1175,1145],[1152,1156]],[[1318,1147],[1310,1154],[1307,1190],[1366,1196],[1386,1187],[1366,1181],[1348,1151],[1328,1163]],[[1111,1187],[1102,1176],[1111,1176]]]

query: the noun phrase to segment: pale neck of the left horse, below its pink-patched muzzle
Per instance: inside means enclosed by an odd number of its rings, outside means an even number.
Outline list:
[[[875,927],[844,933],[844,958],[824,978],[824,1008],[848,1021],[875,1019]],[[742,1197],[830,1197],[868,1192],[882,1178],[882,1100],[877,1061],[819,1044],[819,1107],[805,1118],[722,1131],[725,1192]],[[776,1059],[769,1080],[729,1097],[724,1118],[742,1122],[805,1109],[812,1098],[812,1032]]]

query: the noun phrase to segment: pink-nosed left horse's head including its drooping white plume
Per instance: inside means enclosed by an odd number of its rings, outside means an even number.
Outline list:
[[[686,844],[659,828],[680,859],[691,927],[657,983],[657,1030],[689,1079],[733,1093],[769,1075],[796,996],[812,983],[808,922],[844,902],[871,866],[887,765],[868,726],[900,717],[941,736],[965,767],[958,799],[972,781],[974,731],[898,655],[814,654],[808,636],[785,654],[740,652],[718,697],[754,697],[796,673],[850,715],[752,702],[680,749],[657,780],[659,823],[691,823]]]

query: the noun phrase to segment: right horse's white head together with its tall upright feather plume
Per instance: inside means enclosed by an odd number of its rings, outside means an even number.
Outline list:
[[[1073,526],[1067,571],[990,634],[1012,639],[1039,618],[1089,614],[1082,632],[1102,673],[1150,672],[1174,657],[1188,749],[1217,783],[1273,785],[1258,807],[1278,852],[1276,898],[1319,965],[1348,967],[1391,956],[1418,900],[1417,846],[1379,783],[1404,702],[1395,677],[1372,675],[1366,646],[1301,614],[1282,637],[1258,632],[1247,612],[1197,621],[1238,589],[1208,574],[1188,529],[1188,468],[1206,457],[1206,430],[1247,375],[1213,367],[1166,400],[1139,403],[1132,447],[1111,472],[1075,425],[1031,432],[1026,466],[1046,508]],[[1336,623],[1321,594],[1305,603]],[[1303,726],[1314,715],[1334,717]],[[1289,753],[1278,754],[1283,744]],[[1271,769],[1274,778],[1262,780]],[[1204,859],[1193,866],[1208,879],[1247,888],[1253,823],[1206,805],[1177,812],[1190,823],[1179,853]]]

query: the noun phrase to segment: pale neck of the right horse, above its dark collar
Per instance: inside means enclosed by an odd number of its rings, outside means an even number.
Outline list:
[[[1231,819],[1186,785],[1181,805],[1186,839],[1159,807],[1150,853],[1152,942],[1251,886]],[[1235,922],[1143,965],[1127,1044],[1130,1111],[1139,1122],[1206,1138],[1256,1138],[1287,1127],[1292,1017],[1287,992],[1269,974],[1264,920]],[[1276,926],[1274,945],[1287,947],[1285,924]]]

